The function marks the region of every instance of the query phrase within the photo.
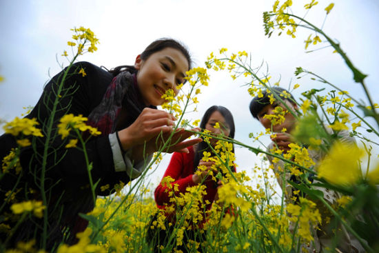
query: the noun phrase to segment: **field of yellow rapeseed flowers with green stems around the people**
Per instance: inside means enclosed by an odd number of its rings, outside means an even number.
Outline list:
[[[300,6],[302,12],[295,13],[293,5]],[[314,24],[307,20],[307,14],[316,7],[322,10],[322,19]],[[304,48],[301,50],[314,50],[314,54],[317,50],[339,54],[341,64],[351,70],[351,81],[356,83],[357,89],[363,90],[365,97],[349,94],[341,84],[324,79],[322,73],[296,68],[294,77],[298,83],[289,92],[300,87],[305,78],[314,82],[314,88],[303,92],[302,97],[297,99],[298,110],[277,106],[274,114],[265,116],[272,125],[283,123],[286,114],[293,114],[298,121],[296,129],[291,132],[294,143],[289,144],[287,152],[277,147],[256,148],[261,146],[263,136],[276,137],[278,133],[272,128],[251,133],[249,137],[252,142],[247,144],[224,135],[214,136],[207,130],[193,131],[199,120],[187,117],[190,115],[189,108],[201,103],[198,99],[201,90],[212,89],[209,81],[214,72],[231,77],[236,88],[245,89],[252,98],[263,97],[264,91],[268,90],[271,104],[285,104],[289,94],[278,95],[272,91],[280,85],[280,80],[274,81],[262,65],[252,61],[253,57],[248,52],[229,52],[227,48],[209,52],[203,65],[186,73],[187,83],[179,85],[180,91],[176,97],[173,90],[163,95],[166,103],[161,109],[176,117],[176,128],[196,132],[207,143],[210,139],[218,140],[214,148],[211,146],[216,156],[211,156],[209,152],[203,154],[203,160],[214,162],[217,170],[216,173],[210,172],[208,178],[214,183],[221,182],[218,198],[210,210],[206,208],[209,203],[203,200],[207,194],[205,185],[189,187],[183,193],[169,177],[163,179],[161,184],[167,189],[170,205],[165,206],[165,211],[157,208],[154,201],[157,185],[146,185],[144,179],[151,170],[145,170],[126,185],[122,181],[112,186],[93,181],[92,162],[88,159],[84,133],[98,136],[101,132],[87,124],[88,119],[82,115],[65,114],[59,122],[54,122],[52,117],[43,126],[37,119],[28,118],[15,118],[3,123],[6,134],[12,134],[17,140],[17,148],[1,161],[0,185],[5,184],[5,179],[8,180],[6,176],[12,174],[14,187],[1,195],[5,199],[0,201],[0,252],[183,252],[179,250],[182,246],[188,252],[294,253],[319,252],[325,239],[328,244],[322,247],[322,252],[354,252],[351,248],[351,251],[345,250],[347,237],[348,241],[354,241],[355,244],[351,245],[360,245],[361,252],[378,252],[378,98],[371,96],[369,90],[373,89],[373,83],[365,83],[367,75],[360,72],[359,66],[349,59],[349,52],[343,51],[343,45],[322,30],[328,14],[335,10],[334,3],[321,9],[319,7],[315,0],[306,3],[274,1],[272,10],[263,13],[265,34],[267,37],[278,34],[303,40]],[[297,37],[298,30],[307,30],[309,36]],[[81,55],[95,52],[99,43],[94,32],[88,28],[73,28],[72,32],[72,39],[68,41],[70,50],[63,50],[60,56],[68,59],[70,64],[57,85],[57,97],[48,98],[52,104],[52,115],[64,109],[60,107],[61,99],[73,92],[63,88],[64,80],[69,79],[72,72],[81,77],[88,74],[83,68],[73,69],[72,64]],[[0,82],[2,80],[0,76]],[[245,85],[238,87],[240,82]],[[215,128],[220,128],[220,125]],[[63,146],[53,147],[54,139],[63,140]],[[346,139],[355,141],[351,143]],[[35,147],[41,140],[45,148],[42,152],[36,152]],[[162,159],[162,153],[175,144],[172,142],[171,139],[165,142],[145,166],[154,170]],[[263,183],[253,188],[247,183],[252,179],[247,176],[245,168],[237,167],[234,172],[236,157],[232,144],[249,150],[252,156],[259,155],[262,161],[260,165],[255,165],[254,170],[262,175]],[[21,159],[21,151],[25,149],[35,152],[36,159],[41,161],[41,168],[38,169],[29,164],[37,188],[18,185],[18,179],[25,173],[25,163]],[[50,186],[44,180],[46,172],[52,168],[47,157],[58,149],[77,149],[83,153],[88,171],[87,187],[92,196],[89,201],[94,209],[80,214],[89,224],[84,232],[72,235],[69,230],[63,229],[61,243],[49,245],[52,214],[51,209],[46,207],[54,201],[57,203],[53,208],[54,215],[59,213],[60,199],[59,196],[50,196]],[[60,159],[57,157],[54,161],[59,163]],[[201,174],[201,170],[206,168],[198,168],[196,173]],[[267,176],[273,171],[276,179],[282,182],[281,192],[276,192]],[[331,199],[329,194],[332,195]],[[275,197],[278,195],[279,199]],[[8,207],[11,212],[8,212]],[[60,221],[62,217],[59,214],[54,219]],[[34,238],[13,243],[12,236],[25,224],[38,227]],[[154,248],[148,242],[149,234],[161,230],[170,236],[166,245]],[[37,234],[37,231],[41,233]],[[187,239],[189,232],[194,232],[197,240]],[[65,243],[70,236],[77,239],[74,245]]]

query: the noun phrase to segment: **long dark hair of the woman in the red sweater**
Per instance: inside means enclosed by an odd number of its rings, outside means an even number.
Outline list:
[[[212,113],[214,112],[220,112],[221,115],[225,118],[226,123],[229,125],[230,132],[229,137],[234,138],[234,132],[236,132],[236,127],[234,125],[234,119],[232,112],[227,110],[227,108],[221,106],[221,105],[213,105],[205,112],[203,119],[201,119],[200,128],[201,130],[205,129],[205,125],[207,125],[209,118],[211,117]],[[197,144],[196,152],[195,152],[195,158],[194,158],[194,171],[196,171],[198,163],[203,158],[203,152],[209,151],[209,144],[205,141],[202,141],[201,143]],[[234,152],[234,145],[233,145],[233,152]]]

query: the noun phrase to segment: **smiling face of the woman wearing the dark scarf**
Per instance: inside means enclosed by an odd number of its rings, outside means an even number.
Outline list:
[[[146,60],[139,55],[134,67],[139,70],[137,83],[143,101],[146,105],[161,105],[165,102],[162,95],[166,90],[174,90],[178,94],[176,85],[184,83],[185,72],[189,65],[181,51],[174,48],[165,48],[154,52]]]

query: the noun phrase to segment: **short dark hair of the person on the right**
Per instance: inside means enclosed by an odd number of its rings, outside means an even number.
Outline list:
[[[291,103],[296,103],[296,100],[292,96],[291,93],[289,93],[287,90],[274,86],[271,87],[270,92],[273,92],[283,98],[284,100],[288,100]],[[267,89],[262,92],[263,97],[254,97],[252,101],[250,102],[249,109],[250,112],[252,113],[253,117],[258,119],[258,113],[266,106],[268,105],[269,102],[269,94],[270,92],[267,92]]]

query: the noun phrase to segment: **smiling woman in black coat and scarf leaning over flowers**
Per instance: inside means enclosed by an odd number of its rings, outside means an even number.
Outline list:
[[[3,225],[15,227],[0,232],[1,243],[8,247],[37,239],[47,250],[62,242],[75,243],[76,233],[88,225],[79,213],[94,208],[96,195],[111,194],[117,184],[141,176],[152,154],[169,138],[174,144],[167,145],[164,152],[188,152],[188,146],[201,141],[184,141],[193,133],[173,132],[175,118],[156,109],[165,102],[161,98],[165,90],[175,90],[183,82],[190,63],[183,45],[158,39],[136,57],[133,66],[107,72],[79,62],[53,77],[25,117],[42,125],[39,139],[20,142],[20,136],[12,131],[0,136],[0,160],[17,152],[21,166],[5,168],[0,177],[0,199],[6,199],[0,216],[6,217]],[[50,130],[48,122],[52,122]],[[79,130],[83,134],[78,134]],[[76,138],[84,140],[81,145]],[[103,185],[110,190],[101,188]],[[41,215],[20,219],[20,212],[12,214],[12,203],[29,203],[26,201],[47,205],[43,227],[36,225],[41,223]]]

